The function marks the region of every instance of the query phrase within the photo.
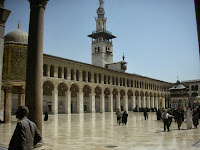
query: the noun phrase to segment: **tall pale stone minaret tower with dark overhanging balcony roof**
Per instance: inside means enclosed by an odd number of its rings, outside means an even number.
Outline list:
[[[99,0],[98,17],[95,18],[96,30],[88,35],[88,37],[92,38],[92,65],[100,67],[113,63],[112,39],[116,38],[106,30],[107,18],[104,17],[103,3],[103,0]]]

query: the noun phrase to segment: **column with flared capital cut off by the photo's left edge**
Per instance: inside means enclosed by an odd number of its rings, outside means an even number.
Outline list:
[[[2,68],[3,68],[3,52],[4,52],[4,33],[5,33],[5,23],[10,15],[10,10],[4,9],[4,0],[0,2],[0,95],[2,86]],[[1,106],[0,96],[0,106]]]

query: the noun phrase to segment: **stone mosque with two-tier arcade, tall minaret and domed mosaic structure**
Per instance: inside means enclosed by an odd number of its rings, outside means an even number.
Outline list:
[[[43,55],[43,110],[70,114],[170,107],[168,89],[172,83],[125,72],[124,56],[113,62],[112,40],[116,36],[106,29],[102,3],[99,0],[96,30],[88,35],[92,38],[92,64]],[[7,102],[10,115],[25,104],[27,48],[28,34],[19,25],[5,35],[1,110]],[[186,105],[194,105],[194,97],[200,95],[200,80],[181,83],[189,89]]]

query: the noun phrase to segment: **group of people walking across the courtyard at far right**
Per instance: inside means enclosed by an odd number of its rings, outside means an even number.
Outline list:
[[[162,116],[161,116],[161,113],[162,113]],[[164,131],[166,130],[166,127],[167,127],[167,130],[170,131],[169,127],[171,125],[172,118],[174,118],[175,122],[177,123],[178,129],[180,129],[181,124],[184,121],[184,119],[187,124],[187,129],[191,129],[192,124],[194,125],[195,128],[197,128],[199,124],[199,119],[200,119],[200,112],[199,112],[198,107],[192,110],[189,107],[187,107],[186,111],[180,108],[178,108],[177,110],[171,110],[169,108],[169,109],[163,110],[163,112],[160,112],[158,110],[156,114],[157,114],[157,120],[160,120],[160,117],[162,117],[163,119]]]

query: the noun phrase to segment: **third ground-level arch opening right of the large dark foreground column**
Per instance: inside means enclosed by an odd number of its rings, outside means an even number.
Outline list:
[[[77,113],[78,112],[78,96],[79,93],[79,86],[77,84],[72,84],[70,87],[71,91],[71,112]]]

